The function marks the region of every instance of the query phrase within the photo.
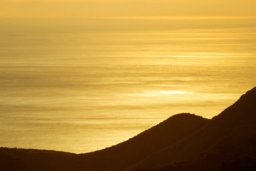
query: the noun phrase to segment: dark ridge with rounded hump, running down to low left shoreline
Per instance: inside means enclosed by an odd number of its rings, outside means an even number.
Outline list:
[[[36,149],[1,148],[0,170],[1,166],[6,168],[6,163],[15,161],[23,168],[17,169],[15,165],[9,164],[9,170],[121,170],[193,134],[204,127],[207,121],[209,120],[195,114],[176,114],[123,143],[79,155]],[[8,158],[8,162],[5,161]]]

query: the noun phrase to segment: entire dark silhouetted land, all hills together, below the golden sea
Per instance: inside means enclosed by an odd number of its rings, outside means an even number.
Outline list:
[[[256,88],[210,120],[177,114],[123,143],[92,153],[1,147],[0,170],[256,170]]]

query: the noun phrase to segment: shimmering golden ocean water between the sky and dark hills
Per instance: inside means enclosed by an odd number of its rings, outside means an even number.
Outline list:
[[[1,22],[0,146],[94,151],[256,85],[255,26],[99,23]]]

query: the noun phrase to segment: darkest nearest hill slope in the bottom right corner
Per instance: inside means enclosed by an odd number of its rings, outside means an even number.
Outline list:
[[[254,171],[256,169],[255,149],[255,137],[231,136],[222,139],[220,143],[195,160],[175,162],[160,168],[137,169],[136,171]]]

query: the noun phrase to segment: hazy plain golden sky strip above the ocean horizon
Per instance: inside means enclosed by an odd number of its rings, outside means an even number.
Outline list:
[[[255,16],[255,8],[255,0],[0,0],[0,17]]]

